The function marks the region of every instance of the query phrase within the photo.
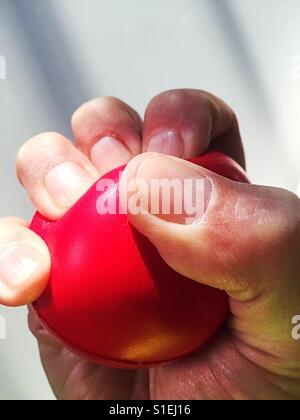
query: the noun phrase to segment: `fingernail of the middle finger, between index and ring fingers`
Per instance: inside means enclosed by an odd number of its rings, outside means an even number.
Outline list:
[[[113,137],[103,137],[91,150],[91,161],[101,173],[125,165],[131,157],[127,147]]]

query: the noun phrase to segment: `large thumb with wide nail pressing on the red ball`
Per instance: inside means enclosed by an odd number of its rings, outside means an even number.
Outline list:
[[[299,277],[300,200],[292,193],[159,154],[133,159],[120,192],[132,224],[188,278],[248,301]]]

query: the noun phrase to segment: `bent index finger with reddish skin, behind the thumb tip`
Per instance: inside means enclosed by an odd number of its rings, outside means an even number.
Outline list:
[[[172,90],[151,101],[145,114],[143,150],[186,158],[219,150],[245,166],[234,112],[199,90]]]

